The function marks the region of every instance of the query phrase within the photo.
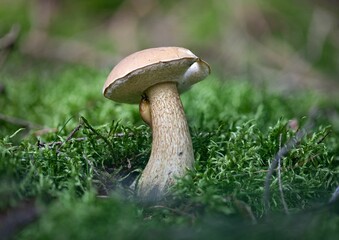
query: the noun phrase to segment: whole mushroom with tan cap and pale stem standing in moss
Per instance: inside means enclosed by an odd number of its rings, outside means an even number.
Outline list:
[[[133,53],[109,74],[104,96],[116,102],[139,102],[141,117],[152,129],[151,156],[137,183],[141,200],[161,200],[176,178],[193,167],[192,140],[179,93],[209,74],[206,62],[181,47]]]

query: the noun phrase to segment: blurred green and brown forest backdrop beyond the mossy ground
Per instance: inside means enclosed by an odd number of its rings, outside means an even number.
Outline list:
[[[338,12],[336,0],[1,0],[0,36],[29,58],[107,69],[140,49],[183,46],[224,80],[336,95]]]

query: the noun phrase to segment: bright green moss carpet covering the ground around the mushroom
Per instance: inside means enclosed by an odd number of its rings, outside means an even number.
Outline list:
[[[18,59],[12,60],[24,68]],[[246,79],[212,75],[182,97],[195,168],[178,180],[170,199],[144,205],[129,185],[147,162],[151,132],[136,106],[101,96],[106,74],[77,65],[50,70],[44,64],[20,74],[11,67],[3,71],[2,113],[34,123],[28,129],[1,122],[0,208],[9,211],[28,201],[39,216],[16,238],[261,238],[288,237],[291,231],[331,237],[338,232],[337,209],[328,205],[339,185],[337,103],[311,92],[279,94]],[[269,166],[310,122],[307,134],[281,159],[284,197],[273,173],[268,221],[263,195]]]

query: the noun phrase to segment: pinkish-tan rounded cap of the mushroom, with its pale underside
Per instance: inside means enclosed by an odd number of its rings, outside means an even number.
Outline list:
[[[103,94],[116,102],[139,103],[151,86],[176,82],[179,92],[203,80],[209,65],[181,47],[149,48],[121,60],[109,74]]]

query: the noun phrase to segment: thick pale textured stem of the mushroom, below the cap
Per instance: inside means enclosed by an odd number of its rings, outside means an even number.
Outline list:
[[[163,198],[176,181],[192,168],[194,154],[176,83],[156,84],[146,90],[152,118],[152,152],[138,182],[145,201]]]

